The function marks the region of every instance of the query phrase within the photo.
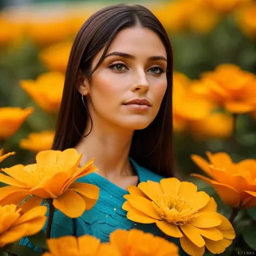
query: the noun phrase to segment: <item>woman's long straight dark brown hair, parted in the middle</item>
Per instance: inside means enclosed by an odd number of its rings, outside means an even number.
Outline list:
[[[172,46],[163,25],[142,5],[108,6],[93,14],[80,28],[69,57],[52,149],[63,151],[75,147],[89,121],[92,129],[90,114],[76,89],[78,71],[81,70],[90,81],[92,73],[102,63],[113,38],[120,30],[134,26],[154,31],[163,42],[167,53],[167,90],[153,122],[143,130],[134,131],[129,156],[139,165],[161,176],[173,177]],[[106,48],[103,55],[92,70],[92,59],[104,46]]]

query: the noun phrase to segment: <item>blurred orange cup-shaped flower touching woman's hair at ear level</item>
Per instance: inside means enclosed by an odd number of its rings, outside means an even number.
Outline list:
[[[22,80],[21,87],[48,113],[57,113],[62,100],[65,77],[62,73],[48,72],[36,80]]]

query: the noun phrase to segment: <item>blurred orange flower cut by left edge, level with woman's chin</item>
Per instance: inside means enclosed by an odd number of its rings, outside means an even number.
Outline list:
[[[0,107],[0,140],[9,139],[17,132],[33,110],[33,107]]]

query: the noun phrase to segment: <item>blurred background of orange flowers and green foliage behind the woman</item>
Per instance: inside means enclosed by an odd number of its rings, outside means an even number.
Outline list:
[[[256,159],[255,0],[0,0],[0,149],[16,152],[1,167],[50,149],[72,41],[93,12],[121,2],[147,6],[169,33],[177,172],[229,217],[214,190],[190,177],[201,173],[190,157]],[[239,212],[239,239],[223,254],[256,251],[255,221],[255,207]]]

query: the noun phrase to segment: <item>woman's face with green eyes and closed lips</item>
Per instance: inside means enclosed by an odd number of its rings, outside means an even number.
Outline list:
[[[95,68],[104,49],[93,59]],[[150,125],[157,116],[167,87],[167,56],[159,37],[145,28],[120,31],[93,73],[85,91],[93,123],[104,121],[129,130]],[[86,81],[86,80],[85,80]],[[146,99],[138,104],[125,104]],[[139,102],[137,102],[139,103]],[[148,106],[149,105],[149,106]]]

